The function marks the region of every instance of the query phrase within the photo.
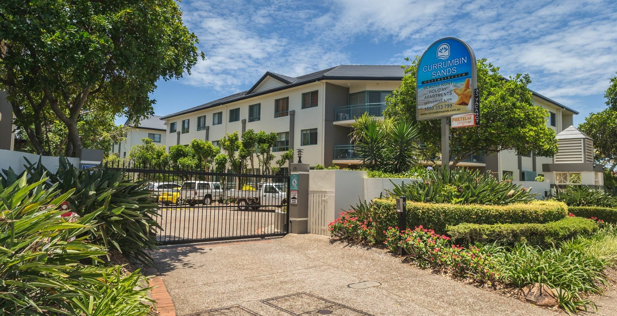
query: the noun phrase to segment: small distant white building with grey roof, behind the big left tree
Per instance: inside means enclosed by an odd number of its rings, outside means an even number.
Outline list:
[[[135,145],[143,145],[143,138],[150,138],[157,145],[164,145],[167,138],[167,127],[165,121],[159,115],[152,115],[139,122],[139,125],[131,125],[128,120],[124,125],[128,126],[126,138],[122,143],[112,146],[111,153],[117,154],[120,158],[128,157],[131,148]]]

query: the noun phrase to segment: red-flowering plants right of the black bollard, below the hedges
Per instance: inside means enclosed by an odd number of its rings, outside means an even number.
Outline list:
[[[454,276],[470,277],[481,283],[489,281],[494,284],[498,277],[487,248],[460,247],[450,243],[448,236],[436,234],[422,226],[400,233],[399,228],[389,227],[384,235],[387,249],[394,252],[397,246],[402,246],[408,257],[420,267],[446,270]]]

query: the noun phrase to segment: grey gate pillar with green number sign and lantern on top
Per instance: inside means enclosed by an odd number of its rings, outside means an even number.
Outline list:
[[[309,232],[309,164],[289,165],[289,233]]]

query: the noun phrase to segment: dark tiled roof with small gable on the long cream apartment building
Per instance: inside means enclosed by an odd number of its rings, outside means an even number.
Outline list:
[[[275,78],[281,81],[283,85],[274,86],[268,89],[257,91],[256,88],[267,77]],[[255,96],[261,96],[263,94],[273,93],[283,89],[292,88],[294,86],[305,85],[319,80],[402,80],[405,76],[405,69],[397,65],[338,65],[336,67],[319,70],[317,72],[307,73],[299,77],[288,77],[280,75],[278,73],[266,72],[263,76],[247,91],[231,94],[224,98],[220,98],[214,101],[210,101],[200,106],[191,107],[189,109],[181,110],[172,114],[161,117],[162,120],[167,120],[178,115],[189,114],[197,112],[199,110],[209,109],[210,107],[222,106],[223,104],[241,101],[244,99],[254,98]],[[536,93],[530,90],[535,96],[545,101],[556,104],[563,109],[569,110],[574,114],[579,114],[576,110],[553,101],[542,94]]]

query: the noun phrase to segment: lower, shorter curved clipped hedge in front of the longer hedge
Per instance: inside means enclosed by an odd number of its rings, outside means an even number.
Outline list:
[[[462,223],[446,228],[448,235],[457,241],[471,243],[492,243],[512,245],[526,241],[544,246],[576,235],[589,235],[598,225],[589,218],[566,217],[556,222],[532,224],[471,224]]]

